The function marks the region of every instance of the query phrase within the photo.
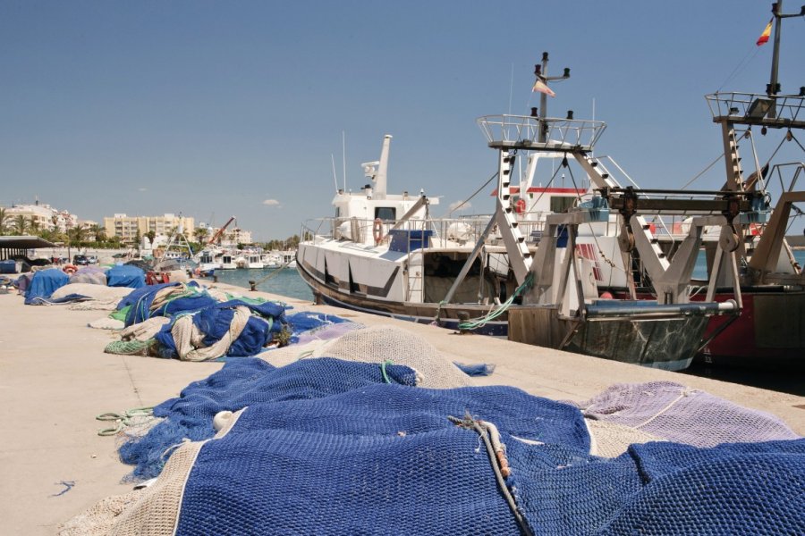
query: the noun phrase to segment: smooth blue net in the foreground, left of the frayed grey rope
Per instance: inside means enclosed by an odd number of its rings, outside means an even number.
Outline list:
[[[516,534],[479,435],[447,419],[465,413],[589,449],[576,408],[510,387],[376,384],[250,405],[201,449],[177,533]]]

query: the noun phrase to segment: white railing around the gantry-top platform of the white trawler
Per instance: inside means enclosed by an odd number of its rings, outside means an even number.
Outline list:
[[[485,115],[476,121],[489,147],[524,150],[591,151],[606,129],[604,121],[576,120],[572,117]]]

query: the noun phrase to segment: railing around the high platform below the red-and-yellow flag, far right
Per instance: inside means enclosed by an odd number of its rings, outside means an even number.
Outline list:
[[[713,93],[705,98],[715,122],[805,128],[805,96]]]

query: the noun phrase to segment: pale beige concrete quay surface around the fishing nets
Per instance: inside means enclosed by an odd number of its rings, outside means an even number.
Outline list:
[[[211,283],[210,283],[211,284]],[[246,294],[246,289],[216,284]],[[297,311],[337,314],[368,326],[394,324],[416,333],[462,363],[495,364],[478,385],[506,384],[531,394],[583,400],[614,383],[676,381],[738,405],[765,411],[805,435],[805,398],[732,383],[621,364],[440,328],[314,306],[264,292]],[[66,306],[24,306],[15,293],[0,295],[0,518],[4,534],[55,534],[59,523],[101,498],[131,490],[121,479],[131,466],[117,459],[114,437],[97,430],[96,415],[155,406],[223,364],[186,363],[105,354],[116,335],[88,322],[104,311]]]

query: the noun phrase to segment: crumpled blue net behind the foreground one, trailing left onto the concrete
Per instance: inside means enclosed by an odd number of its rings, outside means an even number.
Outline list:
[[[123,444],[119,454],[123,463],[136,465],[133,480],[152,478],[162,471],[170,449],[183,439],[212,437],[212,420],[219,411],[236,411],[259,402],[321,398],[384,381],[414,385],[416,374],[401,365],[381,367],[330,358],[299,361],[279,369],[261,359],[229,361],[206,380],[191,383],[179,398],[155,407],[154,415],[165,420],[142,438]]]

